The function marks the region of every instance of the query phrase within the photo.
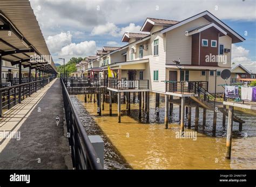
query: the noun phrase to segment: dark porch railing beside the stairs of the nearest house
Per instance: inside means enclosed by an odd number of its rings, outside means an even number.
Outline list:
[[[199,88],[208,91],[207,81],[164,81],[166,92],[184,93],[198,93]]]

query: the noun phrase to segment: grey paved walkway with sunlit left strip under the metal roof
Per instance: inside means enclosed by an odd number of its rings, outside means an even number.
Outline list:
[[[63,118],[59,79],[6,111],[0,120],[0,169],[71,169]]]

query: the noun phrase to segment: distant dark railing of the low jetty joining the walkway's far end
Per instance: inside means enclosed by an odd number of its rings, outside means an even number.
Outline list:
[[[66,87],[106,87],[107,80],[103,78],[65,78]]]

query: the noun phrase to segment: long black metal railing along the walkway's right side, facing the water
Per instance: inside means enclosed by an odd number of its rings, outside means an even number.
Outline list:
[[[62,94],[65,108],[66,125],[69,133],[69,145],[71,147],[72,164],[75,169],[103,169],[98,161],[98,156],[90,142],[75,106],[62,83]]]

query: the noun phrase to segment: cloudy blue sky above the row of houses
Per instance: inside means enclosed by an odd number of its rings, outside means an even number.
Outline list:
[[[256,66],[254,0],[31,0],[31,6],[55,62],[125,45],[123,33],[139,32],[146,17],[183,20],[208,10],[246,39],[232,46],[232,61]]]

